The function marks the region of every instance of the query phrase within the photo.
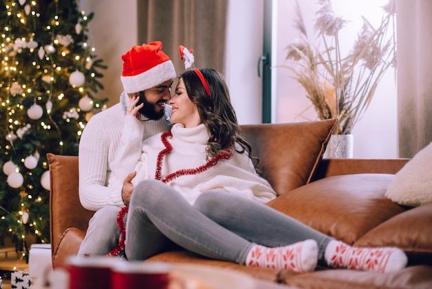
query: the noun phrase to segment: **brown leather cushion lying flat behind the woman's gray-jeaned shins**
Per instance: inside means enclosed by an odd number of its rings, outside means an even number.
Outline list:
[[[352,245],[389,218],[406,211],[384,196],[391,174],[332,176],[304,185],[267,205]]]

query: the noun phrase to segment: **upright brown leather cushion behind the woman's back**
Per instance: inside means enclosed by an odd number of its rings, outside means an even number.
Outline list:
[[[242,125],[242,135],[259,158],[258,169],[278,195],[309,183],[322,159],[336,120]]]

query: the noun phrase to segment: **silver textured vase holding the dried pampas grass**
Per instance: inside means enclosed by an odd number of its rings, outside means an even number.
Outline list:
[[[353,158],[354,136],[333,134],[328,140],[324,158]]]

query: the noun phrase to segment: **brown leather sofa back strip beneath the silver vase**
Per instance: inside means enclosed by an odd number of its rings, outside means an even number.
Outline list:
[[[396,174],[409,160],[409,158],[324,158],[318,165],[313,180],[348,174]]]

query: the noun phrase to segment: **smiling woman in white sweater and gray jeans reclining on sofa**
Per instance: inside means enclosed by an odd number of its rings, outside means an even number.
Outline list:
[[[173,243],[213,259],[293,272],[317,263],[390,272],[406,266],[397,248],[352,248],[264,205],[276,193],[256,173],[222,75],[179,77],[173,128],[141,145],[137,98],[130,100],[122,151],[113,173],[135,185],[126,222],[126,256],[144,260]],[[141,151],[137,149],[141,146]],[[126,196],[127,198],[127,196]]]

